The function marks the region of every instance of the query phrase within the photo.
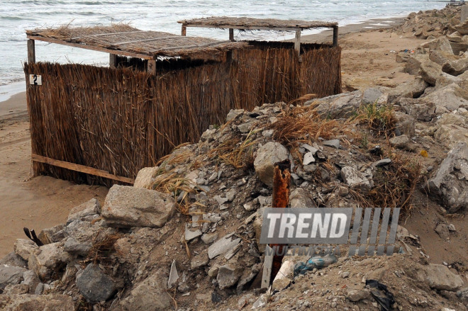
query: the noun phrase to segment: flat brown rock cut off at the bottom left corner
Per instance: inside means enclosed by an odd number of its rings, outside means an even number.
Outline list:
[[[69,295],[0,295],[2,311],[69,311],[75,310]]]

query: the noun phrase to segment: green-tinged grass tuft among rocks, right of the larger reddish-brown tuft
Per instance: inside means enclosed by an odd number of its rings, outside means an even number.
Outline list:
[[[361,105],[354,118],[359,123],[367,124],[377,135],[389,135],[395,130],[396,118],[393,106],[377,106],[377,103]]]

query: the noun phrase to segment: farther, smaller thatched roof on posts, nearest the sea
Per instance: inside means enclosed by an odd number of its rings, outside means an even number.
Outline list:
[[[247,17],[208,17],[179,21],[187,27],[206,28],[234,28],[234,29],[267,29],[267,30],[303,30],[310,28],[333,28],[338,23],[323,21],[286,21],[274,18],[247,18]]]

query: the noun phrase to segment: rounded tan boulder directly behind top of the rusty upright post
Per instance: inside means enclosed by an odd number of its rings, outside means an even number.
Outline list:
[[[255,172],[263,183],[273,186],[274,164],[288,158],[289,152],[286,147],[279,142],[267,142],[257,150]]]

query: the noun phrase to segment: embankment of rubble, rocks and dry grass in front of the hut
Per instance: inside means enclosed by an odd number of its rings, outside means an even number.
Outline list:
[[[433,13],[406,26],[422,14]],[[440,221],[421,226],[441,243],[466,234],[444,217],[468,206],[468,42],[465,24],[440,19],[438,38],[396,57],[413,81],[232,110],[102,207],[90,200],[40,232],[45,245],[18,239],[0,261],[1,309],[468,310],[467,259],[431,262],[404,221],[393,256],[343,251],[296,276],[309,257],[285,256],[272,291],[258,285],[262,213],[286,159],[291,208],[401,208],[407,220],[430,202]]]

